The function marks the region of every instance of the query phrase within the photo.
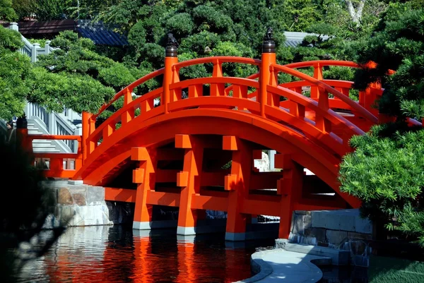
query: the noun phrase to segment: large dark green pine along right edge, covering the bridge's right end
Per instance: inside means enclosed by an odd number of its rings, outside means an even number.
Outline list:
[[[424,130],[406,124],[424,117],[424,10],[411,5],[391,4],[372,37],[353,44],[360,64],[377,63],[356,73],[355,86],[381,81],[377,107],[394,122],[352,138],[355,152],[344,157],[340,181],[363,200],[363,215],[424,246]]]

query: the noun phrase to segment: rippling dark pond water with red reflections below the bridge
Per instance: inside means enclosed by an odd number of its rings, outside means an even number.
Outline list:
[[[25,267],[20,282],[235,282],[252,276],[255,249],[272,245],[225,242],[224,234],[177,236],[172,229],[73,227]]]

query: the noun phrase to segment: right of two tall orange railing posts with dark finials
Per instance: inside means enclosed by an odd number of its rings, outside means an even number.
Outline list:
[[[262,43],[261,67],[259,77],[260,92],[258,102],[261,104],[261,116],[265,116],[265,105],[267,104],[268,92],[266,86],[271,81],[271,64],[276,63],[276,42],[272,38],[272,29],[266,31],[264,42]]]

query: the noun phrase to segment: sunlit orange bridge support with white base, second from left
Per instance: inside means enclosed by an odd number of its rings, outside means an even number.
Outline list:
[[[178,213],[178,235],[195,235],[197,210],[192,209],[192,196],[200,193],[200,173],[204,143],[189,135],[176,135],[175,147],[184,148],[184,166],[177,174],[177,186],[181,187]]]

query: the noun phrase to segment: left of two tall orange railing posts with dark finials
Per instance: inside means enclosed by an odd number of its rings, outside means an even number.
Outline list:
[[[167,47],[165,48],[165,71],[163,73],[163,95],[160,104],[165,105],[165,114],[168,113],[168,103],[171,99],[170,84],[174,80],[172,66],[178,63],[178,44],[172,33],[168,33]]]

